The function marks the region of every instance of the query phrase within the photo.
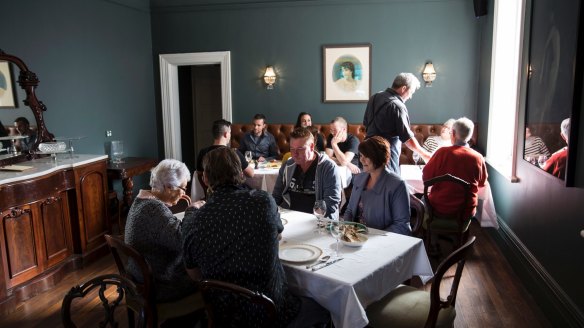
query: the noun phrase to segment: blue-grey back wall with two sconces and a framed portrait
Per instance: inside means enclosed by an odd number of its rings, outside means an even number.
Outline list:
[[[434,86],[422,87],[407,103],[412,122],[477,119],[480,30],[472,1],[154,7],[152,30],[155,54],[231,51],[234,122],[259,112],[271,122],[294,122],[300,111],[317,123],[338,115],[362,122],[365,103],[322,103],[321,47],[348,43],[372,44],[372,92],[388,87],[399,72],[421,79],[424,63],[433,61]],[[273,91],[261,80],[266,65],[278,73]]]

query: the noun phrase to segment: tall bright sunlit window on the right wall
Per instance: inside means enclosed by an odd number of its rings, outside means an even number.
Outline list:
[[[495,0],[487,162],[515,181],[523,0]]]

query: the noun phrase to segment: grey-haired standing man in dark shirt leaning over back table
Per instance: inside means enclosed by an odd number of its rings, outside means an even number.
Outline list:
[[[367,138],[381,136],[389,141],[391,148],[389,169],[398,175],[400,174],[399,155],[402,142],[412,151],[420,154],[424,161],[428,162],[432,157],[414,138],[405,104],[419,88],[420,81],[414,74],[398,74],[391,88],[371,96],[363,117]]]

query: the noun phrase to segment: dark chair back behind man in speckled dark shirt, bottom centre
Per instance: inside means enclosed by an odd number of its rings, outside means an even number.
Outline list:
[[[276,306],[264,294],[219,280],[203,280],[200,286],[205,300],[209,328],[247,326],[249,318],[240,314],[242,304],[255,304],[265,310],[266,316],[261,326],[276,326]],[[216,302],[218,298],[221,298],[221,308],[218,308]]]

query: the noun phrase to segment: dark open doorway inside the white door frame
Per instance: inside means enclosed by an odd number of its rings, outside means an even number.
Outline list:
[[[182,160],[191,172],[199,150],[211,145],[211,125],[222,118],[221,66],[178,67]]]

